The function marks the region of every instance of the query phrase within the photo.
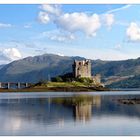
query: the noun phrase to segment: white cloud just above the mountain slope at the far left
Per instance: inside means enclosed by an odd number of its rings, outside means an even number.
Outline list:
[[[22,58],[21,53],[16,48],[3,49],[2,54],[11,61]]]

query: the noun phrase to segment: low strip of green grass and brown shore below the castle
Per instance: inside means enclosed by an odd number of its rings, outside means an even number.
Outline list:
[[[80,91],[105,91],[103,87],[90,87],[82,82],[47,82],[39,83],[25,89],[0,89],[0,92],[80,92]]]

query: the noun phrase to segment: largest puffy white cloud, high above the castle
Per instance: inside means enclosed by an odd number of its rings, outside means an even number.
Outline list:
[[[66,13],[56,19],[58,27],[69,32],[81,31],[88,36],[95,36],[100,28],[100,18],[97,14],[87,15],[85,13]]]

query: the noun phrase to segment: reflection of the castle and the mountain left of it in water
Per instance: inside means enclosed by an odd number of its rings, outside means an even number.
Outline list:
[[[0,109],[9,111],[11,117],[22,111],[24,119],[50,122],[52,119],[64,122],[72,116],[75,121],[90,121],[94,114],[93,106],[100,108],[100,96],[0,99]]]

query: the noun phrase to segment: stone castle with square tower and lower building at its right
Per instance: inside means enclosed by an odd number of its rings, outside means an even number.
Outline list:
[[[95,76],[91,75],[91,61],[90,60],[82,60],[82,61],[75,60],[73,64],[73,75],[75,78],[77,77],[91,78],[95,84],[101,83],[100,74],[96,74]]]

